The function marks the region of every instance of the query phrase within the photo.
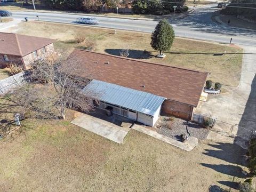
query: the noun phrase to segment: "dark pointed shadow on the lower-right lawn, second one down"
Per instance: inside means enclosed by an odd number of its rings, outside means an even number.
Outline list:
[[[230,175],[232,177],[245,178],[245,176],[242,174],[242,168],[239,166],[224,164],[213,165],[207,163],[201,163],[201,165],[213,169],[219,173]]]

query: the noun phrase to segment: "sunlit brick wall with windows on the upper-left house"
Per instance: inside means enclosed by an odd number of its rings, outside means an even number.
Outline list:
[[[30,68],[30,64],[38,59],[43,59],[50,54],[54,53],[54,46],[53,44],[45,46],[46,52],[43,53],[42,49],[37,50],[37,56],[34,53],[30,53],[23,57],[24,64],[26,66],[26,69]]]

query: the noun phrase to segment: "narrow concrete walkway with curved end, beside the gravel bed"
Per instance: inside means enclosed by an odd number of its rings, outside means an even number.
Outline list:
[[[135,124],[132,127],[132,129],[139,131],[141,133],[145,133],[151,137],[154,137],[158,140],[164,141],[166,143],[169,143],[170,145],[173,145],[175,147],[178,147],[178,148],[186,150],[186,151],[191,151],[198,145],[198,139],[195,137],[190,137],[190,139],[187,142],[183,143],[183,142],[174,140],[172,138],[166,137],[166,136],[159,134],[155,131],[152,131],[150,129],[147,129],[145,126],[142,126],[142,125]]]

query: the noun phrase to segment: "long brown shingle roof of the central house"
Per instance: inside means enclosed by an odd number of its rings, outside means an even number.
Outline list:
[[[68,62],[92,71],[93,78],[100,81],[153,93],[194,107],[207,77],[207,73],[195,70],[84,50],[74,50]]]

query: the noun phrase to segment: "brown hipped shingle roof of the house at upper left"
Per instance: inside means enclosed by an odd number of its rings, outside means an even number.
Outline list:
[[[49,38],[0,33],[0,54],[23,57],[53,42],[54,40]]]

